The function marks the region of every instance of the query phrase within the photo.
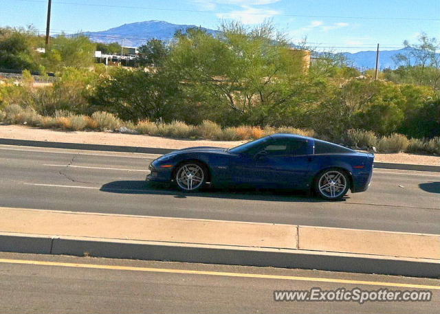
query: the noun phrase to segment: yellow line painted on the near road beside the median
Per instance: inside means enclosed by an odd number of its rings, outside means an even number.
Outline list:
[[[261,279],[298,280],[298,281],[311,281],[311,282],[331,282],[331,283],[339,283],[339,284],[364,284],[364,285],[369,285],[369,286],[386,286],[386,287],[440,290],[440,286],[430,286],[430,285],[425,285],[425,284],[405,284],[405,283],[400,283],[400,282],[376,282],[376,281],[364,281],[364,280],[346,280],[346,279],[337,279],[337,278],[265,275],[263,273],[231,273],[231,272],[225,272],[225,271],[197,271],[197,270],[190,270],[190,269],[163,269],[163,268],[151,268],[151,267],[78,264],[78,263],[73,263],[73,262],[47,262],[47,261],[43,261],[43,260],[12,260],[12,259],[10,260],[10,259],[5,259],[5,258],[0,258],[0,263],[89,268],[89,269],[110,269],[110,270],[119,270],[119,271],[146,271],[146,272],[153,272],[153,273],[182,273],[182,274],[192,274],[192,275],[239,277],[239,278],[261,278]]]

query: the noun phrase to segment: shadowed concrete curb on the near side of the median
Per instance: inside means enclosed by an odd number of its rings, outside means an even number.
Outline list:
[[[320,269],[355,273],[440,278],[438,260],[390,258],[325,251],[187,245],[133,240],[0,234],[0,251],[18,253],[167,260],[223,265]]]

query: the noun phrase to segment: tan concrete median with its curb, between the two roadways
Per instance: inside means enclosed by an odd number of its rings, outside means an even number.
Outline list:
[[[440,236],[0,208],[0,251],[440,277]]]

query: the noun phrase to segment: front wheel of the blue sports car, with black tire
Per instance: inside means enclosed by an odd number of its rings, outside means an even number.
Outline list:
[[[186,161],[177,166],[174,181],[184,192],[195,192],[205,186],[208,177],[206,166],[198,161]]]

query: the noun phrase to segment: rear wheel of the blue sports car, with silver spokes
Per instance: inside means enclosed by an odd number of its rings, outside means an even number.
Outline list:
[[[322,199],[340,199],[349,190],[349,177],[339,169],[325,170],[316,180],[315,190]]]

